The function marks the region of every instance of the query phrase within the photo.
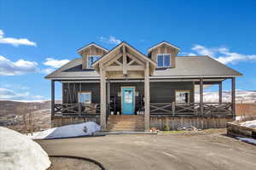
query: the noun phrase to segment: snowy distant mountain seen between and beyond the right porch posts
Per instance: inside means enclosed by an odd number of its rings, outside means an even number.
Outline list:
[[[231,92],[223,92],[222,100],[231,101]],[[195,102],[199,102],[199,93],[195,94]],[[218,102],[218,92],[204,92],[204,102]],[[256,103],[256,91],[236,90],[236,103]]]

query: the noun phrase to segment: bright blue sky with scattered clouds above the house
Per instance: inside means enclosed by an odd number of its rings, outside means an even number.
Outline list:
[[[46,72],[80,57],[89,42],[126,41],[146,53],[166,40],[179,55],[211,54],[243,73],[237,89],[255,90],[255,8],[256,1],[0,0],[0,99],[49,99]]]

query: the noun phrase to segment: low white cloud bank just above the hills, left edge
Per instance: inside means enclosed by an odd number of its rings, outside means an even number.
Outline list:
[[[0,100],[41,100],[44,96],[31,95],[29,92],[16,93],[9,88],[0,88]]]

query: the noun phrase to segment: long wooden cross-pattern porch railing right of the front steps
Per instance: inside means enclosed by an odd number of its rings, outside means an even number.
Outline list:
[[[211,115],[231,114],[231,103],[203,103],[202,113],[200,103],[150,103],[151,115]]]

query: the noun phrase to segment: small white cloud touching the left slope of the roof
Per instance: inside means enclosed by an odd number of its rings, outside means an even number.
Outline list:
[[[45,74],[49,74],[52,71],[55,71],[55,69],[60,68],[62,65],[65,65],[70,61],[69,59],[53,59],[53,58],[46,58],[45,60],[46,61],[43,64],[46,66],[49,66],[48,68],[41,71]]]

